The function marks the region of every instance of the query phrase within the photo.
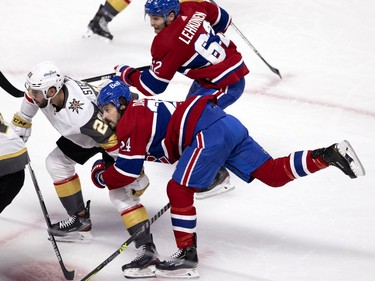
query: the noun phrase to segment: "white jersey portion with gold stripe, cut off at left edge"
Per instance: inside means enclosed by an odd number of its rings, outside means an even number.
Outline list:
[[[28,159],[25,143],[0,114],[0,177],[23,170]]]

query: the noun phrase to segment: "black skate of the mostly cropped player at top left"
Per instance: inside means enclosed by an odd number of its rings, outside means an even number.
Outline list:
[[[113,16],[100,5],[98,12],[88,25],[88,31],[83,35],[84,38],[93,36],[94,34],[106,38],[113,39],[113,35],[109,32],[108,23],[113,19]]]

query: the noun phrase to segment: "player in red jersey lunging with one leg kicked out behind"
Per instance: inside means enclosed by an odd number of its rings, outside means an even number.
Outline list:
[[[160,262],[155,245],[145,245],[140,256],[123,266],[125,277],[199,276],[194,193],[206,188],[222,166],[247,183],[257,179],[272,187],[328,166],[338,167],[350,178],[365,174],[347,141],[272,158],[238,119],[216,105],[212,95],[184,102],[133,101],[128,87],[115,81],[103,87],[97,100],[104,121],[116,129],[121,147],[112,166],[93,169],[97,185],[116,190],[132,183],[146,160],[178,161],[167,184],[178,251]]]

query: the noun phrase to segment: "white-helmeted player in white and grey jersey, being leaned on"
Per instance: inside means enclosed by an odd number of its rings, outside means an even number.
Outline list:
[[[116,157],[118,143],[115,133],[98,115],[96,90],[87,83],[64,76],[51,62],[35,66],[26,79],[27,92],[21,109],[14,114],[12,126],[24,141],[31,135],[31,121],[40,109],[52,126],[61,134],[56,148],[48,155],[46,167],[53,179],[56,193],[69,217],[52,225],[57,241],[76,241],[91,237],[90,201],[84,204],[80,179],[75,164],[84,164],[98,152],[112,163]],[[111,156],[109,156],[111,155]],[[130,190],[142,190],[149,184],[145,174],[141,175]],[[129,190],[126,189],[126,190]],[[110,192],[109,197],[125,222],[130,234],[142,227],[148,220],[145,208],[139,198],[125,192],[125,189]],[[130,203],[129,203],[130,202]],[[139,203],[144,210],[124,210]],[[139,237],[139,243],[150,242],[151,235]],[[137,241],[136,241],[137,242]],[[137,243],[136,243],[137,244]]]

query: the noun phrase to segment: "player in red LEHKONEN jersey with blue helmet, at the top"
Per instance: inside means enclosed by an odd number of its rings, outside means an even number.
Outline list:
[[[145,14],[156,33],[151,69],[120,65],[116,71],[123,82],[154,96],[180,72],[194,80],[188,97],[215,94],[218,105],[226,108],[242,95],[249,70],[224,35],[231,17],[223,8],[203,0],[148,0]]]

